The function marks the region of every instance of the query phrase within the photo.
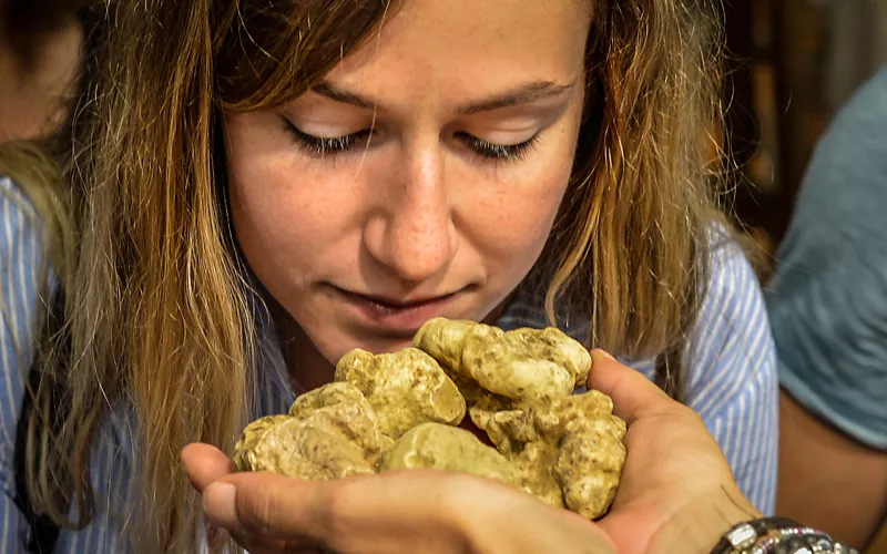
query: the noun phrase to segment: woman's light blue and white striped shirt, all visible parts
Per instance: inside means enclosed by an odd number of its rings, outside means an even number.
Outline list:
[[[26,530],[13,504],[12,452],[34,337],[43,254],[33,209],[10,179],[0,177],[0,371],[3,401],[0,427],[0,552],[21,551]],[[755,274],[731,244],[715,254],[715,267],[685,355],[687,404],[700,413],[720,443],[740,488],[764,513],[772,513],[776,492],[778,384],[769,325]],[[295,400],[267,314],[259,314],[259,394],[255,417],[285,412]],[[587,325],[564,331],[582,338]],[[541,299],[520,293],[498,325],[504,329],[547,325]],[[653,377],[653,361],[631,363]],[[126,552],[121,538],[133,525],[132,493],[136,456],[129,419],[109,418],[92,455],[92,484],[99,499],[93,522],[79,532],[62,532],[57,552]],[[675,445],[680,448],[680,445]],[[106,506],[106,507],[103,507]]]

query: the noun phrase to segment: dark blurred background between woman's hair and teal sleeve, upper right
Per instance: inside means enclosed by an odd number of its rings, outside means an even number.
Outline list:
[[[887,64],[887,0],[730,0],[725,10],[735,217],[763,250],[766,280],[816,141]]]

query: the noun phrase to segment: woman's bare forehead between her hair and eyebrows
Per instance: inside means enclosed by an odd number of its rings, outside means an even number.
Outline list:
[[[418,92],[440,101],[516,82],[572,82],[583,70],[590,6],[590,0],[405,0],[327,80],[386,98]]]

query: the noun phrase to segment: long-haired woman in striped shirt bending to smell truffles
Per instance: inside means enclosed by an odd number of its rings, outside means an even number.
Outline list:
[[[85,526],[63,552],[192,548],[181,448],[230,453],[345,351],[437,315],[555,320],[631,361],[771,511],[769,331],[707,194],[716,25],[696,2],[99,10],[67,208],[43,216],[73,222],[50,243],[63,332],[19,449],[31,503]]]

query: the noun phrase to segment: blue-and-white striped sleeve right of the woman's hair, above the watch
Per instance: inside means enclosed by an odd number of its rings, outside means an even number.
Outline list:
[[[689,345],[687,404],[724,451],[742,492],[776,505],[778,381],[757,276],[737,245],[714,253],[712,279]]]

